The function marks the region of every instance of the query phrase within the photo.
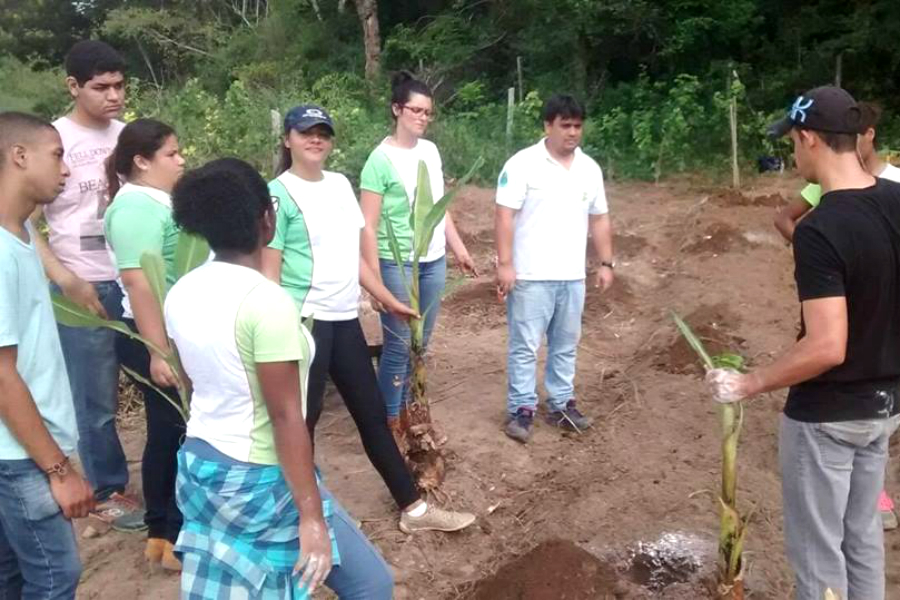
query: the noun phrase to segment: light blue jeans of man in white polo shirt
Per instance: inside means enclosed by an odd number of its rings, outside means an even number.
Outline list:
[[[516,281],[506,298],[509,347],[506,409],[537,407],[537,355],[547,336],[544,386],[550,410],[575,395],[575,357],[581,337],[584,280]]]

